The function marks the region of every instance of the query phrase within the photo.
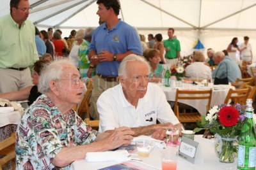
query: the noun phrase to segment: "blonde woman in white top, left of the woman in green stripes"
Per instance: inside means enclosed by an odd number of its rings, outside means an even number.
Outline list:
[[[83,38],[84,38],[84,29],[79,29],[75,35],[75,45],[72,47],[69,53],[70,62],[72,62],[77,68],[78,68],[78,62],[79,62],[78,50],[79,50],[79,46],[84,41]]]

